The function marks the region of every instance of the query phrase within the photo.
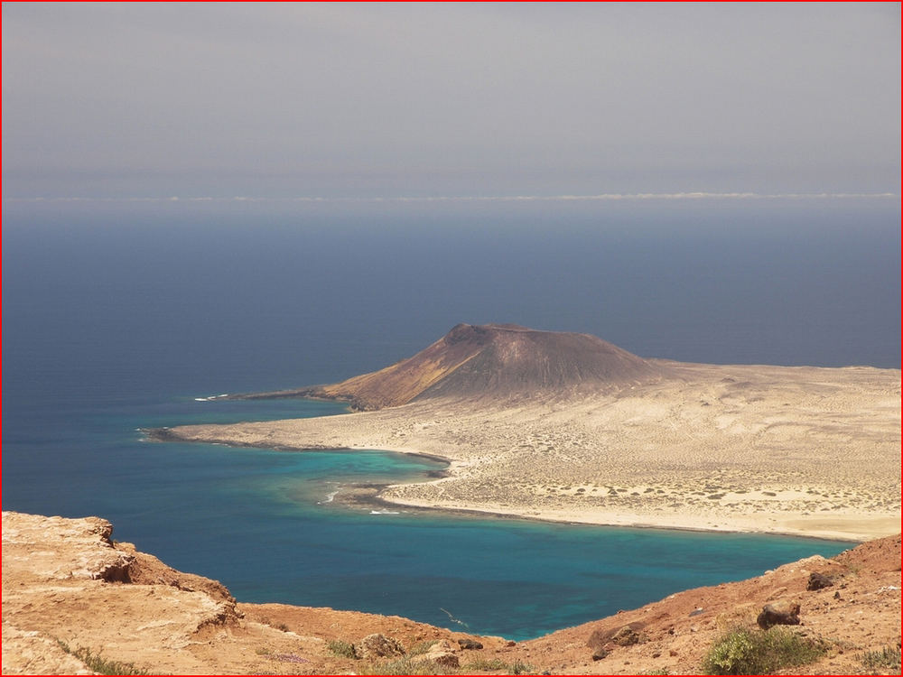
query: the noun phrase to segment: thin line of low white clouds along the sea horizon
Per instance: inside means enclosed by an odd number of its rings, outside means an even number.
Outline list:
[[[694,200],[694,199],[889,199],[899,198],[898,193],[880,192],[635,192],[597,193],[591,195],[437,195],[437,196],[373,196],[373,197],[260,197],[236,195],[211,196],[133,196],[133,197],[33,197],[3,198],[4,202],[298,202],[298,203],[367,203],[367,202],[566,202],[566,201],[619,201],[619,200]]]

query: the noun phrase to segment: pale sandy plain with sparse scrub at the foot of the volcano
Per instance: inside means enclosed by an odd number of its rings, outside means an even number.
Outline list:
[[[649,362],[669,376],[163,437],[448,459],[445,478],[379,493],[418,508],[850,540],[899,532],[899,370]]]

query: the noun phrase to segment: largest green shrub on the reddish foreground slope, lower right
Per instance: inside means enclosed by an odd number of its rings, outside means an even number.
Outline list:
[[[826,647],[786,627],[738,628],[723,635],[703,658],[705,674],[773,674],[812,663]]]

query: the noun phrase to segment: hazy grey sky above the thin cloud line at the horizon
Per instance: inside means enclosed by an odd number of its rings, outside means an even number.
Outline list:
[[[3,193],[898,192],[900,5],[3,5]]]

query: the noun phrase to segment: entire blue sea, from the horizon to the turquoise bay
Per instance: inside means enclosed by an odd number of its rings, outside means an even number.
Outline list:
[[[899,366],[896,200],[626,206],[5,208],[3,507],[101,515],[245,601],[522,639],[848,543],[331,503],[441,464],[143,441],[147,426],[340,412],[210,394],[338,381],[458,322],[644,357]]]

